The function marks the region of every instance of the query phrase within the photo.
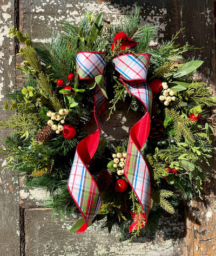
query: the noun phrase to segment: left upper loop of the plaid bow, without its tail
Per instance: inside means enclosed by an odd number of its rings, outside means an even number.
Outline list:
[[[105,67],[105,52],[82,51],[77,53],[76,68],[80,80],[103,75]]]

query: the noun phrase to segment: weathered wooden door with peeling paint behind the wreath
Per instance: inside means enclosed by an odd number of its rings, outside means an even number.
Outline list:
[[[76,23],[90,10],[104,11],[107,23],[117,22],[134,3],[141,6],[145,22],[159,27],[159,41],[169,39],[185,27],[179,43],[205,47],[198,51],[197,57],[205,63],[197,77],[210,83],[214,90],[216,1],[1,0],[0,100],[4,100],[5,90],[13,90],[21,78],[15,72],[18,45],[8,35],[14,24],[19,30],[29,32],[33,40],[42,40],[50,35],[53,27],[58,27],[58,21],[67,19]],[[8,115],[10,110],[3,110],[1,104],[1,120]],[[0,137],[8,133],[1,130]],[[4,165],[3,157],[1,163]],[[15,171],[4,172],[0,178],[0,255],[216,255],[215,185],[214,178],[207,182],[204,202],[185,205],[181,218],[164,219],[154,239],[141,237],[129,244],[119,242],[117,231],[109,234],[100,231],[99,226],[90,227],[84,234],[69,234],[68,229],[77,216],[64,221],[58,216],[56,220],[51,219],[51,209],[40,207],[39,203],[46,194],[36,189],[24,191]]]

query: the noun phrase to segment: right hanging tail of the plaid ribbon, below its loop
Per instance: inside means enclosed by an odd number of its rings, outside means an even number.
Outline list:
[[[137,97],[146,108],[145,115],[130,130],[124,173],[134,193],[137,195],[147,222],[151,206],[150,173],[140,150],[144,146],[150,132],[152,92],[145,82],[120,81],[124,83],[129,93]]]

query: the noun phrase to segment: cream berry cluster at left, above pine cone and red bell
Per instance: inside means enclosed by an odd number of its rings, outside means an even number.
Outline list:
[[[62,132],[62,130],[64,129],[62,124],[65,123],[65,117],[66,115],[69,114],[69,110],[68,109],[60,109],[58,111],[58,113],[54,113],[52,111],[48,111],[48,113],[46,113],[47,116],[50,117],[51,120],[48,121],[48,125],[52,126],[52,129],[56,131],[57,134],[59,134],[60,132]],[[53,123],[53,121],[60,121],[58,123],[58,126],[56,124]]]

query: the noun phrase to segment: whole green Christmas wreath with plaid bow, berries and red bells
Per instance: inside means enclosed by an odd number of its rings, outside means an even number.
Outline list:
[[[1,148],[4,168],[25,176],[26,187],[48,191],[55,212],[80,212],[71,233],[106,218],[109,232],[117,224],[134,237],[165,211],[173,214],[180,197],[201,198],[214,132],[206,121],[216,103],[204,82],[192,80],[203,61],[184,59],[192,47],[175,44],[180,31],[153,44],[157,28],[139,24],[138,8],[116,26],[104,27],[103,13],[61,26],[47,43],[10,30],[25,43],[17,69],[26,76],[4,102],[17,110],[0,123],[14,129]],[[103,123],[121,101],[143,117],[128,140],[106,141]]]

